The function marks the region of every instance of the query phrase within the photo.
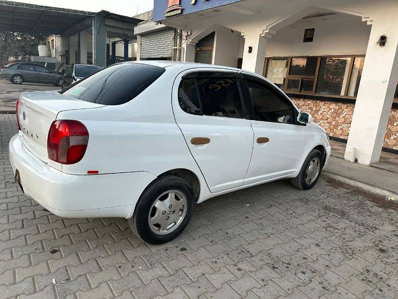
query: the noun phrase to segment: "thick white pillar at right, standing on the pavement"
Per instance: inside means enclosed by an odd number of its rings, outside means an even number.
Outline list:
[[[387,35],[383,47],[378,44],[381,35]],[[344,155],[346,160],[357,158],[365,165],[379,161],[397,80],[397,21],[383,16],[374,19],[372,25]]]

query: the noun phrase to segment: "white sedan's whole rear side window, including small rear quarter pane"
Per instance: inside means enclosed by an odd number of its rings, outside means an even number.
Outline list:
[[[190,114],[244,118],[236,78],[184,79],[179,88],[179,103]]]

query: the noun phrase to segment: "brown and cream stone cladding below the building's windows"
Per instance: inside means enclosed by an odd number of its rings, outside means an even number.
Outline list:
[[[310,113],[327,135],[348,139],[355,104],[294,97],[292,100],[301,111]],[[391,109],[384,147],[398,149],[398,108]]]

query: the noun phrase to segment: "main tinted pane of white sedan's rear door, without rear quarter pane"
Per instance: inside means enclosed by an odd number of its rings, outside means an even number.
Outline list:
[[[204,115],[244,117],[236,79],[200,78],[196,82]]]

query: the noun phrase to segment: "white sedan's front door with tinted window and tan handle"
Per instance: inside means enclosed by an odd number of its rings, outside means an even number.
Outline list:
[[[297,125],[297,110],[276,86],[245,76],[253,105],[253,156],[245,185],[294,173],[304,149],[305,127]]]

